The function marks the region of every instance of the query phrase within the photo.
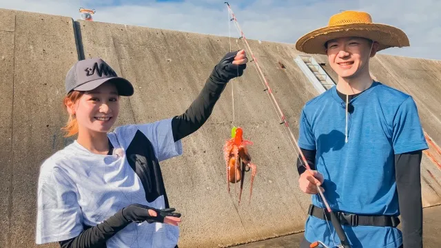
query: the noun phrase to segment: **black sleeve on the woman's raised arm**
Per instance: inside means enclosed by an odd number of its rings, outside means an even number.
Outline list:
[[[180,116],[172,119],[174,141],[198,130],[212,114],[214,104],[225,89],[228,80],[214,71],[207,81],[196,100]]]

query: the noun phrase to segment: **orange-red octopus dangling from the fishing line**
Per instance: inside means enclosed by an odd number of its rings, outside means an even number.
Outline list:
[[[249,200],[253,191],[254,176],[256,176],[256,165],[251,163],[247,145],[252,145],[251,141],[243,139],[243,130],[241,127],[233,127],[232,138],[223,146],[223,155],[227,165],[227,190],[229,193],[229,183],[240,182],[239,203],[242,196],[243,177],[245,172],[252,170],[251,185],[249,188]],[[248,167],[248,169],[247,169]]]

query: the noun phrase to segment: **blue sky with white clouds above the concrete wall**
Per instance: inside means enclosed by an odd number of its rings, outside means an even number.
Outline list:
[[[407,33],[411,47],[382,54],[441,60],[440,0],[234,0],[229,1],[247,39],[295,43],[327,25],[340,10],[362,10],[374,22]],[[48,8],[51,6],[52,8]],[[0,0],[0,8],[80,19],[79,8],[94,8],[94,21],[228,36],[227,8],[219,0]],[[232,26],[232,34],[237,32]],[[237,35],[236,35],[237,36]]]

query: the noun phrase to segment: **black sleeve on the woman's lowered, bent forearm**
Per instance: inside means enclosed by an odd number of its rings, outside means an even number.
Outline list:
[[[75,238],[60,241],[61,248],[103,248],[105,241],[112,238],[114,234],[126,227],[130,222],[118,211],[114,216],[103,223],[90,227]]]

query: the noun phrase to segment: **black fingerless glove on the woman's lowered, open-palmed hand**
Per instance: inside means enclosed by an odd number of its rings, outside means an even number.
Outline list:
[[[149,209],[156,211],[156,216],[150,216]],[[181,214],[174,213],[175,210],[174,208],[155,209],[135,203],[123,208],[123,216],[130,222],[141,223],[147,221],[147,223],[164,223],[166,216],[181,217]]]

